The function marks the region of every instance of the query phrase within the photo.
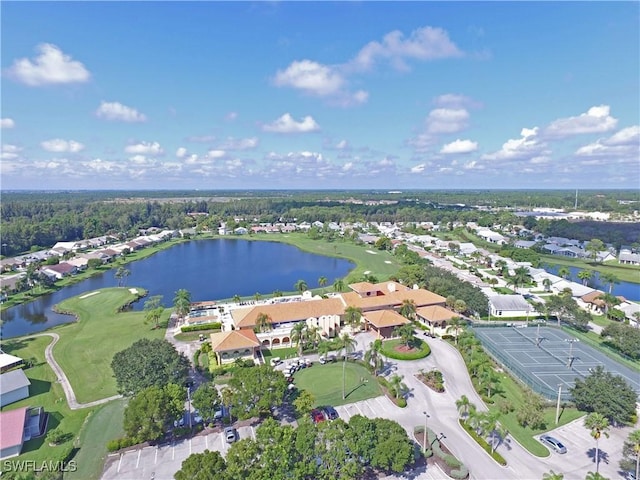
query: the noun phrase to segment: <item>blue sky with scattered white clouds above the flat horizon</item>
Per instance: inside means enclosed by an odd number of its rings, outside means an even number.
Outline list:
[[[639,188],[638,2],[3,2],[2,189]]]

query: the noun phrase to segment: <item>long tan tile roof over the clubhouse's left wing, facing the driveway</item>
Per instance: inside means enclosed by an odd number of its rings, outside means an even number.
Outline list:
[[[276,303],[234,309],[231,311],[231,317],[236,327],[251,328],[256,325],[261,313],[268,315],[272,323],[296,322],[322,315],[342,315],[344,305],[339,298]]]

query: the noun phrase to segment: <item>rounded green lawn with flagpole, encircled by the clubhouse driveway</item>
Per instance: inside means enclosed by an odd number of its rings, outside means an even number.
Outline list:
[[[347,398],[342,398],[342,362],[315,364],[294,374],[294,383],[300,390],[307,390],[316,399],[316,406],[344,405],[382,395],[375,378],[361,365],[347,362],[345,385]],[[363,381],[364,380],[364,381]]]

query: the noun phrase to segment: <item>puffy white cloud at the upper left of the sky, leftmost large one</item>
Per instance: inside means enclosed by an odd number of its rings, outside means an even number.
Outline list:
[[[33,61],[20,58],[8,73],[20,83],[31,87],[49,84],[86,82],[91,74],[85,66],[65,54],[55,45],[42,43],[36,47],[39,55]]]

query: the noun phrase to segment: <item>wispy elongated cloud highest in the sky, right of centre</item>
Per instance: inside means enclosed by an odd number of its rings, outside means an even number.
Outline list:
[[[434,27],[422,27],[411,32],[408,38],[398,30],[386,34],[382,42],[369,42],[350,62],[353,68],[367,70],[379,59],[388,60],[400,70],[409,67],[406,60],[436,60],[448,57],[460,57],[463,53],[449,39],[449,34]]]

